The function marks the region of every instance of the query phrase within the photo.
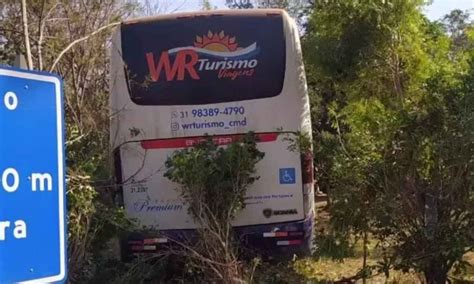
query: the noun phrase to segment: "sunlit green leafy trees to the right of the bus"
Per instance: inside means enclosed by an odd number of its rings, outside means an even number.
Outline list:
[[[303,43],[333,230],[444,283],[474,244],[472,41],[453,51],[423,4],[316,3]]]

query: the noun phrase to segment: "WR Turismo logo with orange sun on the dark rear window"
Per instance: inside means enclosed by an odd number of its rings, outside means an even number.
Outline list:
[[[257,43],[239,47],[235,36],[230,37],[224,31],[196,36],[193,46],[172,48],[161,52],[158,62],[152,52],[146,54],[150,79],[156,82],[162,73],[166,81],[182,81],[188,74],[191,79],[199,80],[199,73],[217,71],[219,79],[235,80],[238,77],[251,77],[258,65]],[[170,57],[174,57],[171,64]]]

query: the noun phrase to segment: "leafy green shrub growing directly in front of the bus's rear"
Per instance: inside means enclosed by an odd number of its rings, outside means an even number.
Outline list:
[[[186,256],[206,281],[245,278],[231,222],[245,206],[248,187],[259,178],[256,164],[263,157],[249,133],[225,148],[209,137],[166,161],[165,177],[180,185],[180,196],[198,225],[197,242],[183,251],[189,251]]]

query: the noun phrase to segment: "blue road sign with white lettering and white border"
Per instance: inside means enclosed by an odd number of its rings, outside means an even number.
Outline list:
[[[66,279],[62,82],[0,68],[0,283]]]

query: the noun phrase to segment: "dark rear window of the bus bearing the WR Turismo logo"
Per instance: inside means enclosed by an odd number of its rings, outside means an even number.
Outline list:
[[[281,93],[281,16],[215,16],[123,25],[122,57],[133,102],[193,105]]]

